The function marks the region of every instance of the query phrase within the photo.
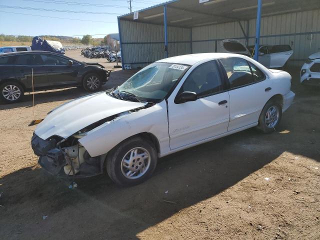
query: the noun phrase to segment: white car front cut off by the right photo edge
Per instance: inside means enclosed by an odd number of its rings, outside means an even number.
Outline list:
[[[320,85],[320,51],[309,55],[307,61],[301,67],[300,82]]]

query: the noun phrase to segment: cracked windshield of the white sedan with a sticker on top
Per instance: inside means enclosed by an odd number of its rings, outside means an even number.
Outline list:
[[[128,100],[159,102],[187,68],[188,65],[184,64],[151,63],[113,90],[112,95]]]

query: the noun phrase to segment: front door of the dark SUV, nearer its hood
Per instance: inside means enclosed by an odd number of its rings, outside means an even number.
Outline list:
[[[51,53],[41,53],[43,64],[48,71],[48,82],[50,87],[76,85],[78,83],[78,71],[80,64],[69,59]]]

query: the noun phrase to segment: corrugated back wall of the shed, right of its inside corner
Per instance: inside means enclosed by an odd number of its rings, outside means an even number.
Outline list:
[[[249,20],[248,23],[248,44],[253,45],[255,19]],[[247,21],[241,21],[241,24],[246,31]],[[215,43],[219,46],[219,39],[223,38],[240,38],[238,40],[245,43],[245,37],[238,22],[193,27],[192,52],[214,52]],[[260,44],[288,44],[293,49],[290,60],[306,59],[311,53],[320,50],[320,10],[262,17]]]

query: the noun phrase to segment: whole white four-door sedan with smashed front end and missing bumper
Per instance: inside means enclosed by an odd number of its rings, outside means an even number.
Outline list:
[[[120,86],[53,110],[32,136],[52,174],[102,173],[134,185],[157,158],[253,126],[272,132],[291,104],[291,76],[239,54],[200,53],[158,60]]]

